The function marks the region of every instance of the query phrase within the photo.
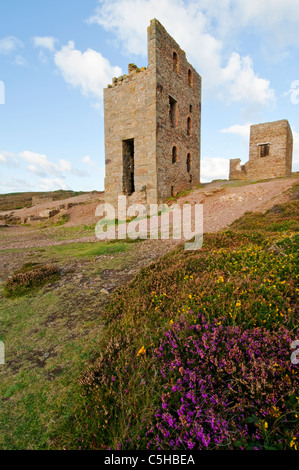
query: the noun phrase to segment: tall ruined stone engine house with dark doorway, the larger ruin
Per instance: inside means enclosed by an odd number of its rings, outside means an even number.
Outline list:
[[[104,90],[105,201],[161,203],[200,182],[201,77],[156,19],[148,67]]]

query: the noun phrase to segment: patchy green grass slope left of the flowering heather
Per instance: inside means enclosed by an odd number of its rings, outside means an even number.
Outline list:
[[[109,276],[112,285],[119,270],[133,262],[134,245],[69,243],[1,251],[4,266],[15,258],[20,268],[7,280],[0,274],[5,344],[0,449],[48,448],[53,427],[73,411],[78,377],[103,334],[101,313],[108,298],[103,283]]]

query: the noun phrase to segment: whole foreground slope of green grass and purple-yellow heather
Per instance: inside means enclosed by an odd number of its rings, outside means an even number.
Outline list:
[[[297,448],[298,224],[297,200],[245,214],[108,304],[99,279],[125,277],[142,243],[3,251],[25,264],[0,293],[0,447]],[[44,285],[49,263],[63,275]],[[14,279],[42,285],[3,297]]]

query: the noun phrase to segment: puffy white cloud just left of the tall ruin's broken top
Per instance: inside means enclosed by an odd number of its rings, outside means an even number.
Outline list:
[[[100,52],[92,49],[81,52],[75,49],[73,41],[55,53],[54,61],[67,83],[79,88],[83,95],[97,99],[111,78],[121,75],[121,68],[113,67]]]

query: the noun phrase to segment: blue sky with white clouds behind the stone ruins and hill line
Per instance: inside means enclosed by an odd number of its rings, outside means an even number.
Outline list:
[[[0,193],[104,189],[102,90],[147,65],[152,18],[202,76],[201,180],[279,119],[299,170],[299,0],[3,0]]]

